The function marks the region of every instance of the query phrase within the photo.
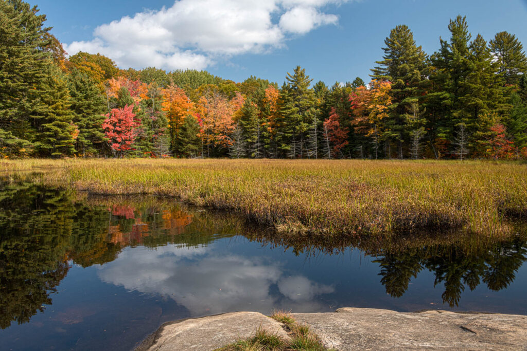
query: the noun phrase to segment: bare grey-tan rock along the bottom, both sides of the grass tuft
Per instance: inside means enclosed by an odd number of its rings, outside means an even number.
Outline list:
[[[307,324],[328,349],[527,350],[527,316],[370,308],[291,316]],[[249,338],[258,328],[289,337],[274,319],[257,312],[235,312],[166,323],[138,350],[214,350]]]

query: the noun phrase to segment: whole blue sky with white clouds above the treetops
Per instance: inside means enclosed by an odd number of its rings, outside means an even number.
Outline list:
[[[508,31],[527,47],[527,0],[29,2],[70,54],[101,52],[121,68],[204,68],[236,82],[256,75],[281,84],[296,65],[328,85],[368,81],[391,28],[408,25],[430,54],[458,14],[467,16],[473,36],[489,41]]]

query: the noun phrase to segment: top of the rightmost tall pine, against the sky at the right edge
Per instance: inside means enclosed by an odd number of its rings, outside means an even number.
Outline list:
[[[499,65],[504,86],[518,85],[520,77],[527,73],[527,57],[522,43],[507,32],[497,33],[490,41],[490,50]]]

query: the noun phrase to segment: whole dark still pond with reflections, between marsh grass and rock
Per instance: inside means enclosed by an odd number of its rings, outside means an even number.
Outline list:
[[[237,310],[527,314],[521,237],[285,242],[168,199],[3,186],[0,348],[126,350],[168,320]]]

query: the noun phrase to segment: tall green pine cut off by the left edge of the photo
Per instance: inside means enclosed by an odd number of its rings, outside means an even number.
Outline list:
[[[30,115],[40,103],[51,44],[45,15],[21,0],[0,0],[0,129],[32,141]]]

